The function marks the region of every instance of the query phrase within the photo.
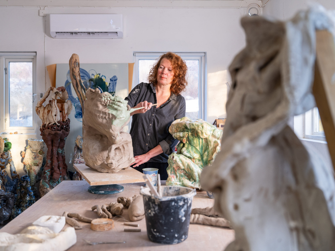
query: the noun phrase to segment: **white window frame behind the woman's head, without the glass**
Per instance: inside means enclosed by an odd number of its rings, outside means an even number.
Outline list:
[[[134,52],[134,78],[132,89],[139,84],[139,60],[157,60],[167,52]],[[173,52],[183,60],[199,60],[199,114],[200,119],[207,119],[207,57],[206,52]]]

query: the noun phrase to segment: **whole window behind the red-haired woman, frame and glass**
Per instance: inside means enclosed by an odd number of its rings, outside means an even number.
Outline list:
[[[141,82],[148,82],[147,77],[156,60],[162,53],[134,53],[135,79],[133,88]],[[186,101],[186,117],[192,120],[206,120],[206,85],[205,85],[205,53],[176,53],[187,64],[188,85],[181,93]]]

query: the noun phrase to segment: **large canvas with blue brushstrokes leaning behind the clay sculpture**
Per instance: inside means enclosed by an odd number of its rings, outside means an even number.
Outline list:
[[[134,64],[129,63],[81,63],[80,77],[86,89],[98,88],[101,92],[108,92],[122,98],[128,96],[129,82],[133,76]],[[79,99],[73,89],[68,63],[58,63],[56,66],[56,88],[64,86],[73,110],[68,116],[70,119],[70,133],[67,136],[65,153],[68,167],[72,167],[75,139],[82,136],[82,110]],[[127,128],[125,128],[127,129]]]

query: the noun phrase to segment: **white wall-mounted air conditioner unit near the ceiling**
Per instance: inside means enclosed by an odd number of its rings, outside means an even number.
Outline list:
[[[122,38],[120,14],[50,14],[53,38]]]

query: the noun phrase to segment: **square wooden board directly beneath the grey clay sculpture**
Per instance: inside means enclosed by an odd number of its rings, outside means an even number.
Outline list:
[[[73,164],[73,167],[91,186],[144,182],[143,173],[132,167],[117,173],[100,173],[85,164]]]

